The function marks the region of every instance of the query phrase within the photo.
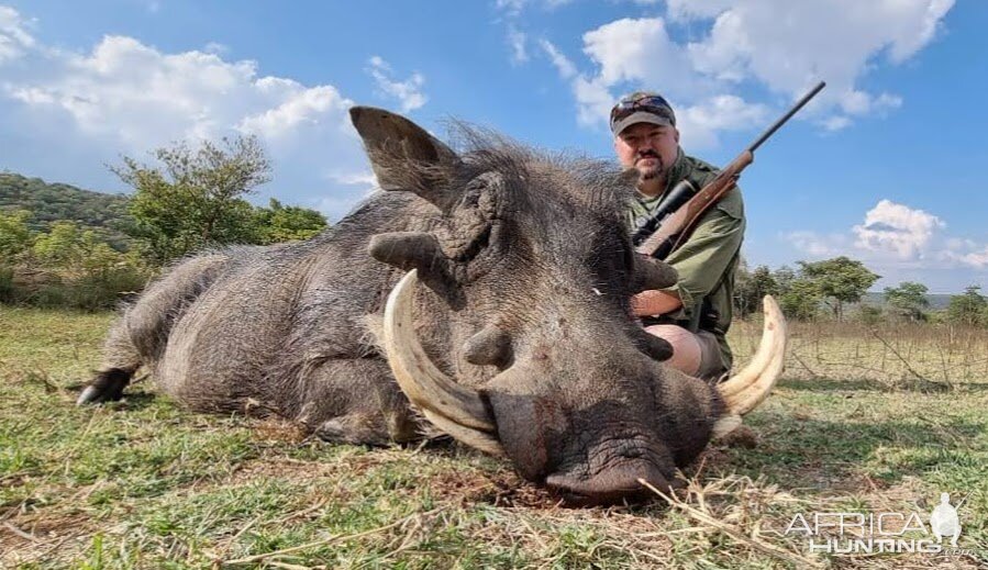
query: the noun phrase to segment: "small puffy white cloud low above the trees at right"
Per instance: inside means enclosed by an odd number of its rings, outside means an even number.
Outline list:
[[[865,214],[865,223],[852,231],[856,247],[914,259],[925,252],[933,232],[943,227],[946,224],[933,214],[881,200]]]

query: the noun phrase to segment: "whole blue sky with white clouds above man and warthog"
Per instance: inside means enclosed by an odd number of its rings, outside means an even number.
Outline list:
[[[981,0],[0,0],[0,170],[125,192],[122,155],[253,134],[252,200],[335,221],[374,187],[354,104],[613,158],[610,107],[652,89],[725,165],[825,80],[742,177],[748,265],[988,290],[986,29]]]

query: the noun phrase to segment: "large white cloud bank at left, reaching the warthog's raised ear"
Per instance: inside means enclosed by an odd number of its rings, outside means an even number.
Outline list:
[[[336,210],[326,213],[338,217],[373,183],[323,175],[367,169],[347,113],[353,101],[334,86],[262,77],[251,60],[164,53],[125,36],[68,52],[33,40],[24,20],[2,7],[0,53],[0,65],[18,58],[2,68],[0,124],[15,124],[25,143],[51,146],[45,137],[57,136],[59,154],[77,161],[70,174],[77,183],[112,188],[103,165],[120,154],[143,159],[177,141],[195,145],[236,133],[258,135],[273,160],[274,181],[262,199],[314,206],[332,195],[326,203]]]

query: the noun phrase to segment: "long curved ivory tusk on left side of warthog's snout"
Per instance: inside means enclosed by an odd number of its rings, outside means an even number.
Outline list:
[[[430,422],[460,442],[492,455],[503,455],[493,435],[493,420],[480,395],[453,381],[425,354],[414,324],[418,270],[409,271],[388,295],[384,348],[391,372],[408,399]]]

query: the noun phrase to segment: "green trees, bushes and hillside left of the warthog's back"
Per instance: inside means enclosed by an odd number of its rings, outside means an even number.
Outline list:
[[[254,137],[154,156],[156,166],[123,157],[111,168],[131,197],[0,175],[0,302],[107,309],[197,250],[306,239],[326,227],[314,210],[245,200],[270,179]]]

